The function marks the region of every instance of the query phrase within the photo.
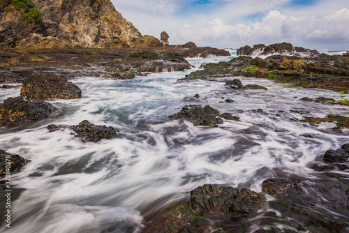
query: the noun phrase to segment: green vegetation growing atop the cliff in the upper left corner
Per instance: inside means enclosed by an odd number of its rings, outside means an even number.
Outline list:
[[[24,10],[24,13],[20,14],[22,20],[27,24],[32,22],[39,22],[41,19],[41,11],[36,7],[35,3],[31,0],[1,0],[0,3],[5,4],[3,8],[5,12],[12,10],[14,6],[16,10]]]

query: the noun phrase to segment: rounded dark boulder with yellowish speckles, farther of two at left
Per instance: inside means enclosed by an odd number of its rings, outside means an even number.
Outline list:
[[[32,74],[24,80],[21,96],[27,100],[73,99],[81,97],[81,89],[66,77],[50,73]]]

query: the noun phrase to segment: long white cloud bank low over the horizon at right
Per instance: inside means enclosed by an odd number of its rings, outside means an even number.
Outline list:
[[[271,10],[262,19],[244,24],[225,24],[220,17],[203,20],[197,24],[185,24],[179,29],[179,38],[187,38],[198,44],[240,47],[257,43],[294,42],[347,43],[349,44],[349,10],[343,8],[333,14],[288,17],[279,10]]]

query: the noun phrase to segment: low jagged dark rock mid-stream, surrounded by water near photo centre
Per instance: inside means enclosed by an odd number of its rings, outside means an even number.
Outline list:
[[[180,112],[174,114],[172,119],[186,119],[194,123],[195,126],[212,126],[223,123],[222,119],[217,117],[218,110],[209,105],[202,107],[201,105],[186,105]]]

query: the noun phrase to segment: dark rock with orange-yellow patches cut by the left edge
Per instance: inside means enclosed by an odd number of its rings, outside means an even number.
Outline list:
[[[22,97],[8,98],[0,104],[0,124],[20,126],[23,123],[50,117],[57,108],[43,101],[27,101]]]

